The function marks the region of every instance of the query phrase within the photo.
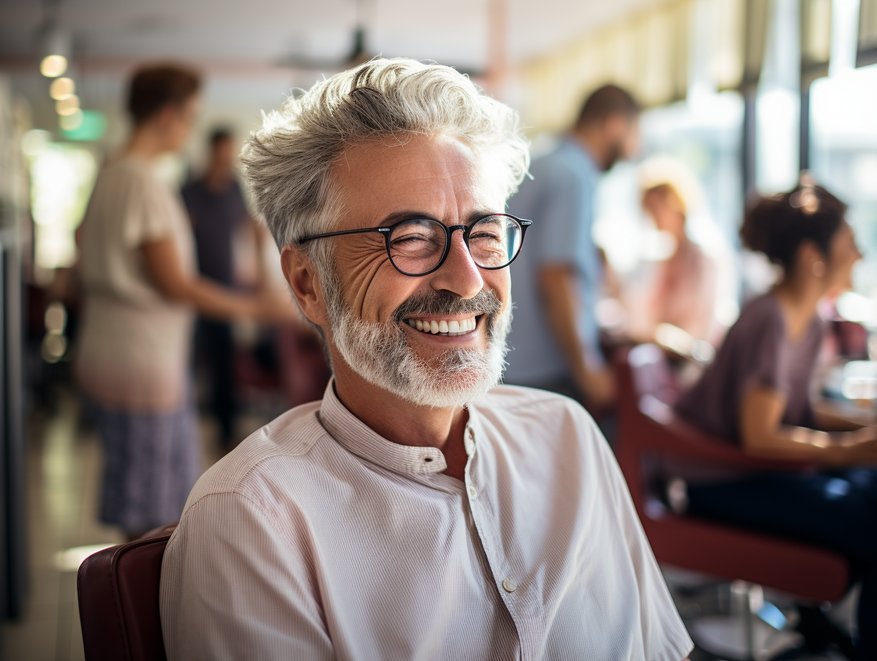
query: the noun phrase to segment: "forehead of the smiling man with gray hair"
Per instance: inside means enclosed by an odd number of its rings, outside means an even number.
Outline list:
[[[348,218],[360,225],[400,211],[446,215],[496,205],[483,159],[447,136],[413,136],[354,145],[332,168]],[[500,204],[502,201],[500,201]],[[367,218],[366,218],[367,217]]]

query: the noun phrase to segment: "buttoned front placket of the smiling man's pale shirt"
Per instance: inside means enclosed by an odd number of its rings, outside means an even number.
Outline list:
[[[503,600],[503,604],[508,609],[512,621],[515,623],[515,629],[517,629],[517,658],[531,659],[535,658],[535,656],[529,649],[531,645],[527,644],[528,636],[526,636],[524,625],[523,605],[519,599],[521,593],[518,593],[518,574],[515,568],[511,566],[508,558],[505,557],[503,540],[499,528],[496,526],[496,512],[490,511],[488,499],[481,497],[479,489],[482,485],[476,484],[472,471],[470,471],[477,452],[476,439],[478,434],[470,417],[463,435],[463,444],[468,456],[466,470],[464,471],[464,482],[469,511],[472,513],[475,533],[481,539],[481,548],[487,556],[488,565],[494,579],[494,586]]]

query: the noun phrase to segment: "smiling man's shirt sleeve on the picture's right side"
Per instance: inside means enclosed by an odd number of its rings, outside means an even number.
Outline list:
[[[645,661],[681,661],[688,657],[694,643],[691,642],[667,590],[658,561],[655,560],[633,505],[631,492],[628,491],[624,475],[612,455],[609,443],[602,438],[593,420],[588,419],[588,424],[592,428],[586,433],[597,439],[599,461],[607,483],[610,507],[615,510],[637,581],[643,658]]]

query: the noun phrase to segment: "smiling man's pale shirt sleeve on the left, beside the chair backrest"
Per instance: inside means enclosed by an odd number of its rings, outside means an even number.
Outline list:
[[[161,565],[168,661],[332,659],[311,566],[239,493],[183,514]]]

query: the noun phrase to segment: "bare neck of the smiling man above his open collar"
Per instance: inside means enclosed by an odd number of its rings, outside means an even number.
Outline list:
[[[446,474],[463,479],[467,454],[463,432],[469,414],[462,407],[417,406],[368,383],[332,352],[335,394],[350,413],[389,442],[437,448],[445,455]]]

